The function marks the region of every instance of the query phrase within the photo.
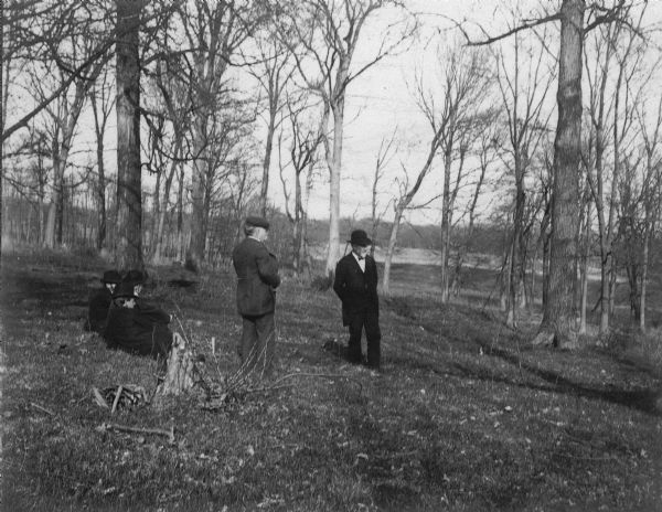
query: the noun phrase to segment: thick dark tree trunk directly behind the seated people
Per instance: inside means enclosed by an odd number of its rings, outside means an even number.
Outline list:
[[[142,268],[140,55],[142,1],[117,0],[117,247],[118,268]]]

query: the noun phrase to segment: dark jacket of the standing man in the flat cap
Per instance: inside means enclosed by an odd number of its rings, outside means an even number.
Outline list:
[[[276,309],[280,285],[278,260],[265,244],[246,237],[232,253],[237,273],[237,310],[245,317],[259,317]]]

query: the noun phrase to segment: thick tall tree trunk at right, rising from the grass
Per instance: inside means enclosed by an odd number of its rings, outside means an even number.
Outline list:
[[[577,262],[578,174],[581,159],[583,0],[564,0],[560,8],[558,124],[554,140],[554,189],[549,296],[541,324],[559,348],[576,345],[574,290]],[[549,335],[549,333],[552,335]],[[538,337],[541,335],[538,334]]]

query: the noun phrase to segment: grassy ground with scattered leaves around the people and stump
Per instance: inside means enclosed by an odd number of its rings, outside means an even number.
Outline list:
[[[151,393],[157,364],[83,330],[103,269],[3,255],[3,511],[662,510],[662,375],[652,353],[637,356],[655,333],[628,351],[532,349],[535,314],[513,332],[469,299],[493,275],[472,273],[473,289],[444,306],[433,267],[396,265],[374,375],[322,350],[345,339],[333,294],[289,278],[276,383],[111,414],[92,388]],[[166,286],[177,270],[150,275],[147,297],[177,314],[222,390],[238,366],[234,275],[194,290]],[[108,424],[172,427],[174,440]]]

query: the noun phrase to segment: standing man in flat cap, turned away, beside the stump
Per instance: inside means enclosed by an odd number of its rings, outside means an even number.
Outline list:
[[[280,285],[278,260],[267,247],[269,222],[249,216],[244,222],[246,238],[232,253],[237,273],[237,310],[243,332],[238,345],[242,369],[269,376],[276,345],[276,288]]]

